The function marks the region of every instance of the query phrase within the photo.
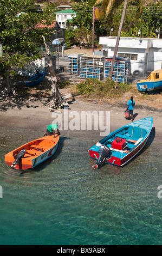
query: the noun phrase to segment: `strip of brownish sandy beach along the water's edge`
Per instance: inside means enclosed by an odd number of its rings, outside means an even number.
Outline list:
[[[127,104],[127,102],[126,102]],[[120,127],[128,124],[131,122],[130,120],[126,120],[124,118],[124,110],[126,108],[126,104],[123,105],[125,107],[119,107],[119,106],[111,106],[108,103],[95,103],[95,102],[87,102],[83,101],[82,99],[76,97],[74,98],[74,101],[69,101],[69,107],[68,107],[68,114],[72,111],[77,112],[81,117],[81,112],[90,111],[91,113],[93,111],[96,111],[99,113],[99,111],[110,112],[110,132],[119,129]],[[62,117],[64,117],[63,113],[64,109],[61,109]],[[135,105],[134,107],[134,121],[146,118],[146,117],[153,117],[153,127],[155,127],[155,137],[162,137],[161,135],[161,112],[159,111],[153,111],[149,108],[139,108],[139,106]],[[25,106],[14,106],[13,108],[8,108],[6,111],[1,111],[1,121],[0,121],[0,127],[2,129],[1,135],[5,127],[7,127],[7,130],[14,130],[14,133],[16,132],[16,129],[29,129],[34,131],[34,133],[37,131],[37,135],[43,137],[44,131],[46,131],[47,126],[51,124],[51,122],[54,120],[54,117],[56,118],[56,114],[54,115],[53,112],[51,112],[48,108],[48,106],[44,105],[44,102],[40,102],[38,100],[30,100],[28,101],[28,105]],[[74,118],[74,117],[73,117]],[[71,119],[73,119],[71,117]],[[98,121],[98,120],[97,120]],[[93,126],[92,126],[93,127]],[[86,126],[87,128],[87,126]],[[85,135],[85,133],[89,134],[89,132],[99,133],[98,131],[90,131],[90,130],[84,130],[83,133],[81,130],[61,130],[61,135]],[[82,135],[81,135],[82,136]],[[105,135],[106,136],[106,135]],[[103,137],[105,137],[103,136]],[[95,139],[96,141],[100,140],[100,138]]]

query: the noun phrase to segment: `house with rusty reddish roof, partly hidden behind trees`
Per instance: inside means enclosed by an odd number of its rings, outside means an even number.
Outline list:
[[[54,34],[51,36],[50,40],[53,41],[59,38],[60,40],[64,41],[64,28],[61,28],[57,21],[54,21],[53,23],[51,23],[51,25],[37,24],[36,28],[53,28]]]

